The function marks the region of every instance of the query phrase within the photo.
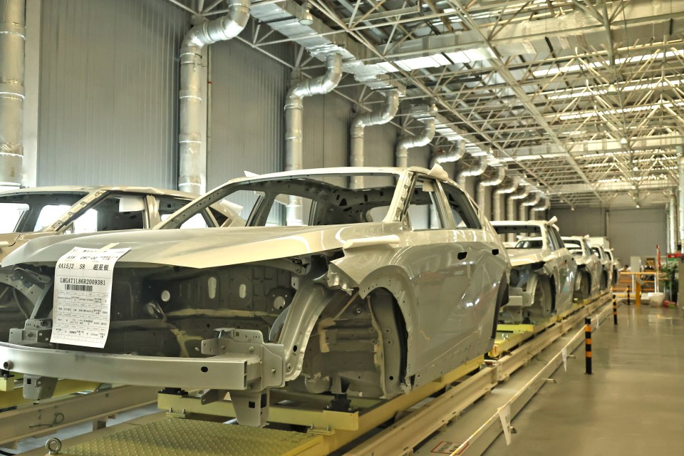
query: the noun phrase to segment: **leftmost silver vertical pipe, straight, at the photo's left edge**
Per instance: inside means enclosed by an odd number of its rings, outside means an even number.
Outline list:
[[[0,0],[0,186],[19,187],[24,160],[26,1]]]

